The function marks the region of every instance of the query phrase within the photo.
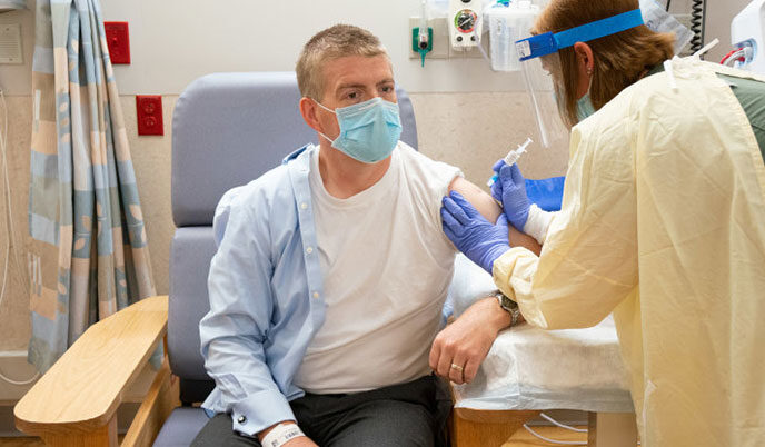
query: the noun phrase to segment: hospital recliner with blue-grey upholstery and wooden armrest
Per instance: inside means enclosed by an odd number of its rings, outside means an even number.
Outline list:
[[[417,148],[411,101],[404,90],[397,95],[401,140]],[[147,298],[89,328],[17,405],[19,429],[48,445],[117,445],[117,408],[167,335],[167,357],[122,445],[191,443],[208,420],[197,404],[215,386],[200,354],[199,320],[209,310],[216,205],[228,189],[316,142],[316,132],[300,117],[299,99],[292,72],[209,74],[183,91],[172,119],[177,229],[169,299]],[[68,401],[51,401],[62,387],[68,387]]]

